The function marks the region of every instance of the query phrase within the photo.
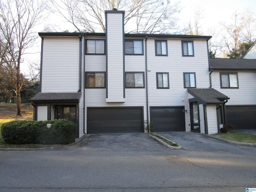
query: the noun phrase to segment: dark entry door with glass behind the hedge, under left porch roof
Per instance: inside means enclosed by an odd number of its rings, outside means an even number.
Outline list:
[[[76,106],[56,106],[55,119],[66,119],[76,122]]]

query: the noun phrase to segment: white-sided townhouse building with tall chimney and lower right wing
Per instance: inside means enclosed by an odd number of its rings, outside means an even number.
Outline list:
[[[256,108],[255,61],[222,68],[209,59],[210,36],[125,34],[124,11],[116,10],[106,11],[106,33],[39,36],[34,120],[72,120],[78,138],[144,132],[144,120],[154,132],[214,134],[233,114],[235,123],[243,119],[244,107]]]

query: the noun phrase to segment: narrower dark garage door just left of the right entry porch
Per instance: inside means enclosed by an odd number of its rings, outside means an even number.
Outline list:
[[[151,107],[152,132],[185,131],[184,107]]]

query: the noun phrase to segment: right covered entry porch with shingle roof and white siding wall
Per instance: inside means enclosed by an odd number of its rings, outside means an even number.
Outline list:
[[[226,124],[228,96],[213,88],[188,89],[191,131],[215,134]]]

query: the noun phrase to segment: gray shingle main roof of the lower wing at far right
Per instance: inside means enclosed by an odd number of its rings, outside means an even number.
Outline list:
[[[256,70],[256,59],[210,58],[212,70]]]

